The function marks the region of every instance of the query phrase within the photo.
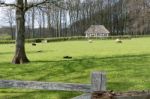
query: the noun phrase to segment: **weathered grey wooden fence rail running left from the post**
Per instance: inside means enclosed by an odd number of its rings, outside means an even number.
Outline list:
[[[56,82],[0,80],[0,88],[26,88],[40,90],[81,91],[90,92],[90,84],[71,84]]]

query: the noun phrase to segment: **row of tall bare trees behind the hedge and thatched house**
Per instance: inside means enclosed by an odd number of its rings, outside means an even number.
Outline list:
[[[112,35],[150,33],[149,0],[62,0],[28,10],[26,37],[84,36],[93,24],[103,24]],[[14,10],[5,10],[14,34]],[[37,28],[38,29],[35,29]],[[13,35],[12,35],[12,38]]]

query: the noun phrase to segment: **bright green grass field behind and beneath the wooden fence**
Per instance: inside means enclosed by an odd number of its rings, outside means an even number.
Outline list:
[[[11,64],[13,44],[0,45],[0,79],[90,83],[90,73],[105,71],[107,89],[150,89],[150,38],[66,41],[32,46],[26,44],[31,63]],[[40,52],[38,52],[40,51]],[[64,60],[63,56],[72,56]],[[0,99],[70,99],[81,93],[27,89],[0,89]]]

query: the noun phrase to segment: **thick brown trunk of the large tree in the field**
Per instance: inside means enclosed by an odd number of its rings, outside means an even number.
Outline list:
[[[25,53],[25,11],[23,0],[16,0],[16,51],[12,60],[14,64],[28,63],[29,60]]]

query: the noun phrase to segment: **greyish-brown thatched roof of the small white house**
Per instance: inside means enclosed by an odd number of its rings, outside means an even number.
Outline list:
[[[110,33],[104,25],[91,25],[90,28],[88,28],[85,31],[86,34],[88,33]]]

